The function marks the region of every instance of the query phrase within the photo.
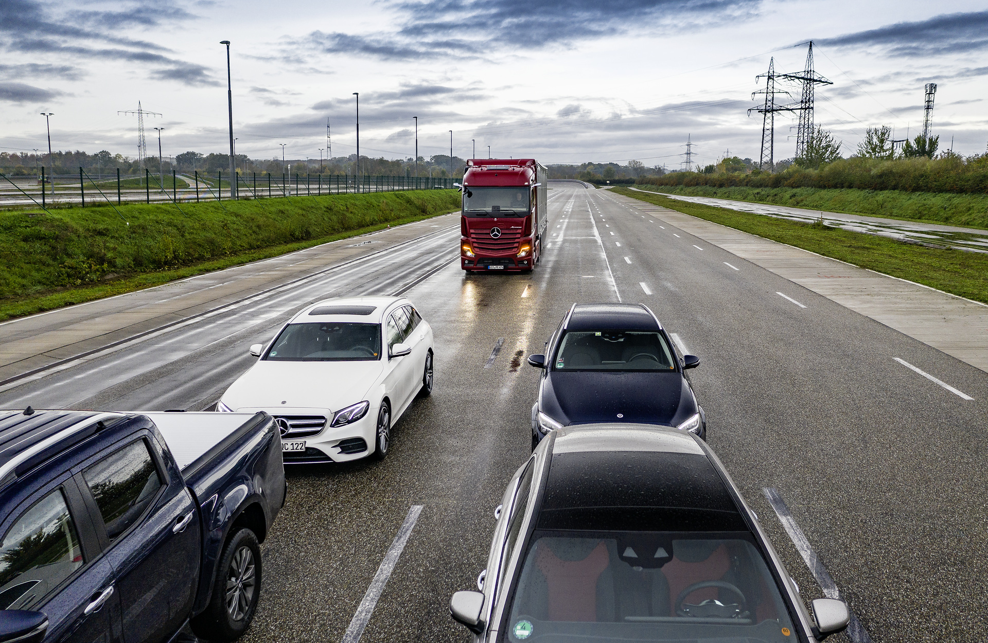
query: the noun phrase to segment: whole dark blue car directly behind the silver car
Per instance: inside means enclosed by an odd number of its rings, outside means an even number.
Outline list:
[[[542,369],[532,407],[532,447],[553,429],[628,422],[675,427],[706,438],[706,418],[680,356],[644,304],[574,303],[529,356]]]

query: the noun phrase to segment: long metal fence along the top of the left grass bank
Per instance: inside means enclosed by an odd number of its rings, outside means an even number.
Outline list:
[[[145,170],[143,175],[121,174],[92,177],[84,168],[78,175],[8,176],[0,172],[0,207],[30,205],[46,207],[78,203],[82,207],[101,202],[201,202],[279,197],[319,197],[327,195],[403,192],[409,190],[450,190],[449,177],[402,177],[352,174],[271,174],[237,173],[234,181],[222,171],[215,175],[194,171],[170,175]]]

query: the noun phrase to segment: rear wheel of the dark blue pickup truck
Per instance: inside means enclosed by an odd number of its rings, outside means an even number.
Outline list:
[[[250,626],[261,598],[261,545],[250,529],[233,533],[223,547],[206,611],[192,629],[210,641],[234,641]]]

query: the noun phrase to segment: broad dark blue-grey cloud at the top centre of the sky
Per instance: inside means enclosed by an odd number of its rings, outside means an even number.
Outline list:
[[[523,46],[568,46],[576,40],[625,35],[628,25],[647,24],[663,32],[736,22],[754,16],[760,5],[761,0],[399,0],[388,5],[402,16],[397,31],[316,31],[288,48],[301,52],[315,47],[381,60],[476,58],[505,50],[505,45],[518,53]]]

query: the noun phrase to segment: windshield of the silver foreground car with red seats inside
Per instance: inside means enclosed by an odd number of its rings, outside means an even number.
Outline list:
[[[513,642],[796,640],[745,533],[535,531],[511,601]]]

